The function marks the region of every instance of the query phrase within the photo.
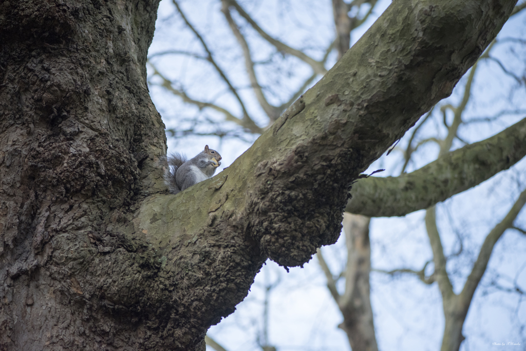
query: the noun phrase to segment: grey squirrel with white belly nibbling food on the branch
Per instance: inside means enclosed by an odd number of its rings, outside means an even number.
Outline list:
[[[168,167],[164,174],[168,190],[171,194],[177,194],[181,190],[210,178],[216,172],[216,168],[221,165],[220,159],[221,155],[208,148],[208,145],[205,145],[204,151],[189,160],[178,153],[168,156]]]

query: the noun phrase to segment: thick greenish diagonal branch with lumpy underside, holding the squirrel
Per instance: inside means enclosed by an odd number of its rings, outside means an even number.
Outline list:
[[[146,198],[133,230],[166,263],[174,325],[204,334],[246,296],[265,259],[302,265],[335,242],[348,185],[451,94],[514,5],[393,2],[230,167]],[[175,324],[182,316],[192,323]]]

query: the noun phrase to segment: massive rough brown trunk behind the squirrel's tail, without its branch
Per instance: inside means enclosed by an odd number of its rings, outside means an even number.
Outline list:
[[[160,263],[126,229],[164,190],[145,66],[158,2],[0,4],[2,350],[174,345],[148,317]]]

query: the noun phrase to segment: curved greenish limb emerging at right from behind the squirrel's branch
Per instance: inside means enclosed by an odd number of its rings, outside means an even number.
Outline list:
[[[526,119],[497,135],[450,152],[409,174],[369,177],[352,186],[346,211],[404,216],[472,188],[526,155]]]

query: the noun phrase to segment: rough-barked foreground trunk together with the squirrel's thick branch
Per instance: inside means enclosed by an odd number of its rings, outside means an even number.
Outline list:
[[[166,195],[157,0],[0,4],[0,348],[192,350],[267,257],[337,239],[347,188],[448,96],[514,0],[398,0],[220,175]]]

